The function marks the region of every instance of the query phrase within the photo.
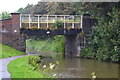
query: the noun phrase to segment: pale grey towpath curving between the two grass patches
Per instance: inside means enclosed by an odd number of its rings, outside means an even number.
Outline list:
[[[2,78],[10,78],[10,73],[7,70],[7,65],[9,64],[9,62],[11,62],[12,60],[14,60],[16,58],[20,58],[20,57],[24,57],[24,56],[26,56],[26,55],[0,59],[0,80]]]

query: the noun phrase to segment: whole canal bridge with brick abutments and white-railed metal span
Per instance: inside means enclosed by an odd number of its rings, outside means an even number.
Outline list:
[[[20,51],[26,51],[25,35],[64,35],[65,55],[79,56],[86,46],[87,34],[97,23],[89,14],[83,15],[38,15],[11,13],[12,17],[0,20],[2,43]],[[84,33],[84,36],[79,36]],[[82,45],[81,45],[82,44]]]

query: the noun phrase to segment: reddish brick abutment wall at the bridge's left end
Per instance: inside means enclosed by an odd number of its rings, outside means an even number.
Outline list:
[[[11,13],[12,17],[0,20],[1,43],[26,51],[25,36],[20,34],[20,13]]]

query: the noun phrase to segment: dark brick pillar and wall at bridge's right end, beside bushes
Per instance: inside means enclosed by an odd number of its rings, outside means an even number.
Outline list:
[[[82,32],[77,36],[77,51],[80,53],[82,48],[87,46],[88,34],[90,34],[92,27],[98,23],[97,19],[93,19],[90,17],[90,14],[83,14],[82,21]]]

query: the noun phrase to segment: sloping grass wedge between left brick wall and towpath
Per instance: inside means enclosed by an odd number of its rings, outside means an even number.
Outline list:
[[[0,43],[0,59],[12,57],[12,56],[18,56],[18,55],[22,55],[22,54],[25,54],[25,53],[20,52],[11,46]]]

